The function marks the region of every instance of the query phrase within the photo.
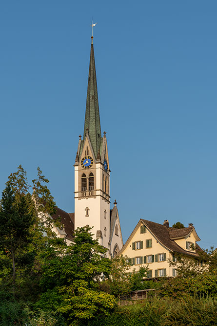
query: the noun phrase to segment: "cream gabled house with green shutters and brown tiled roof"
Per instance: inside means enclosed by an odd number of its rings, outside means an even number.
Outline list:
[[[200,247],[193,224],[183,229],[140,219],[127,239],[119,255],[127,256],[132,264],[131,270],[148,266],[147,278],[176,276],[176,268],[170,266],[168,259],[174,261],[176,254],[188,259],[199,258]]]

